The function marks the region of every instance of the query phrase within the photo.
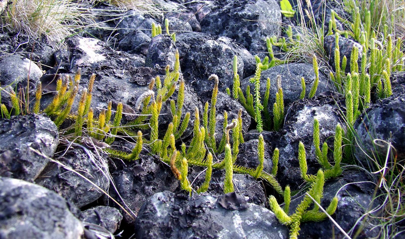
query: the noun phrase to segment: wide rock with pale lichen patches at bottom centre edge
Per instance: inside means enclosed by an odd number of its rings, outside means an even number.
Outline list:
[[[219,198],[171,192],[149,198],[135,222],[143,238],[288,238],[288,229],[268,209],[235,193]]]

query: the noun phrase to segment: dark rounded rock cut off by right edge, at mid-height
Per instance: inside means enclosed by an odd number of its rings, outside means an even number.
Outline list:
[[[363,166],[375,166],[369,157],[379,163],[378,158],[385,159],[388,142],[394,147],[398,159],[405,158],[405,95],[392,95],[373,105],[360,115],[354,129],[358,144],[355,156]],[[394,151],[391,149],[390,152]]]

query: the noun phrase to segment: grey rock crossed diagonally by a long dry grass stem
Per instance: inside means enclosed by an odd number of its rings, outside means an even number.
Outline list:
[[[71,147],[58,158],[58,161],[90,179],[104,192],[108,190],[108,165],[103,158],[97,158],[88,150]],[[35,183],[54,190],[78,208],[94,202],[103,195],[92,183],[56,163],[49,163],[35,179]]]

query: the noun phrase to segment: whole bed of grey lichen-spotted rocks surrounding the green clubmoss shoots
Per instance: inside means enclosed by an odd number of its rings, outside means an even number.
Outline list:
[[[296,19],[282,16],[276,0],[197,1],[186,5],[181,5],[185,2],[182,0],[166,2],[182,10],[165,14],[170,30],[176,31],[176,42],[166,34],[152,38],[151,24],[161,24],[161,19],[133,10],[122,19],[104,23],[117,27],[113,33],[89,28],[58,46],[46,37],[34,40],[22,34],[0,31],[1,86],[15,84],[16,88],[26,89],[29,75],[30,94],[34,95],[35,87],[41,81],[46,93],[42,100],[44,108],[53,98],[56,75],[73,76],[80,69],[80,88],[86,88],[90,75],[96,74],[91,105],[96,114],[99,109],[106,108],[109,101],[115,106],[118,102],[124,103],[128,112],[135,112],[136,101],[147,90],[152,78],[164,75],[167,65],[173,69],[178,50],[186,88],[183,117],[186,112],[194,112],[195,107],[199,112],[204,111],[214,85],[208,77],[216,74],[219,77],[217,131],[221,132],[222,112],[227,111],[228,119],[233,119],[242,108],[226,93],[226,88],[232,89],[233,84],[233,57],[238,57],[242,91],[249,84],[253,88],[249,79],[256,69],[254,56],[267,56],[265,37],[285,34],[281,23],[294,25]],[[319,6],[322,1],[311,2]],[[331,9],[343,13],[337,6],[327,6],[327,17]],[[112,10],[102,3],[94,8]],[[320,19],[323,10],[320,9],[316,16]],[[98,19],[100,22],[105,20],[108,17]],[[334,57],[333,40],[325,38],[325,49],[331,58]],[[344,41],[348,43],[340,47],[341,55],[349,58],[356,42],[342,39]],[[271,173],[271,155],[274,148],[278,148],[276,179],[283,188],[290,185],[297,192],[292,198],[292,212],[303,194],[300,189],[305,186],[297,160],[298,144],[304,143],[308,173],[315,174],[320,166],[312,146],[313,119],[319,120],[320,141],[326,140],[332,146],[336,125],[345,125],[342,118],[345,105],[343,96],[334,91],[322,72],[315,98],[299,100],[301,77],[310,86],[315,74],[311,64],[296,62],[262,72],[261,89],[265,89],[267,77],[272,80],[270,111],[277,90],[276,75],[281,75],[282,79],[286,118],[280,130],[262,132],[264,171]],[[405,156],[405,75],[392,73],[391,82],[393,95],[373,102],[367,110],[368,117],[360,115],[354,128],[364,144],[363,149],[386,151],[371,147],[367,129],[374,128],[375,138],[391,139],[400,159]],[[310,87],[306,90],[309,93]],[[3,92],[1,96],[2,103],[9,107],[10,96]],[[176,93],[173,99],[175,97]],[[78,101],[79,97],[72,112],[77,109]],[[161,113],[159,129],[166,130],[172,120],[169,105],[164,106]],[[183,141],[192,136],[194,116],[191,115]],[[124,117],[123,122],[127,120],[130,119]],[[242,111],[242,123],[245,143],[239,146],[236,164],[255,168],[259,164],[259,133],[255,130],[255,120],[246,110]],[[119,138],[112,145],[133,147]],[[355,149],[356,164],[367,167],[369,161],[365,154],[360,147]],[[200,174],[200,171],[198,167],[189,168],[189,180],[195,180],[195,185],[204,181],[205,173]],[[281,196],[266,183],[242,174],[233,175],[235,193],[224,195],[223,178],[223,170],[214,170],[208,192],[189,196],[181,190],[170,167],[150,155],[146,145],[139,160],[124,162],[87,145],[70,144],[46,115],[1,119],[0,238],[93,239],[112,238],[114,234],[117,238],[138,239],[288,238],[289,228],[279,223],[269,210],[267,200],[275,195],[282,202]],[[375,175],[347,167],[342,176],[325,184],[322,206],[327,207],[337,196],[339,203],[332,217],[350,234],[361,228],[357,238],[379,234],[379,228],[374,227],[379,224],[375,217],[367,216],[361,222],[357,221],[383,203],[374,199],[376,182]],[[375,212],[375,216],[378,213]],[[299,238],[344,238],[344,235],[327,219],[302,223]]]

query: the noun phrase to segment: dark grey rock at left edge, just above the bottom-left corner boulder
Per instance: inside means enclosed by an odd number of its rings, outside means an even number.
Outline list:
[[[43,115],[13,116],[0,120],[0,176],[33,181],[59,144],[58,128]]]

